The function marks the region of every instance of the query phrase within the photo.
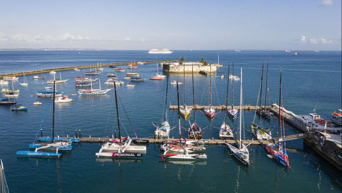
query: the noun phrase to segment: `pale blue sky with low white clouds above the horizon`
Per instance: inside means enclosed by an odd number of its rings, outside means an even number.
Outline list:
[[[341,50],[341,1],[1,1],[0,48]]]

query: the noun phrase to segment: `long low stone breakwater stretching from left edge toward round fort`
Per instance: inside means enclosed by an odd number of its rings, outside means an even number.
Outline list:
[[[162,61],[145,61],[146,63],[163,63],[163,62],[175,62],[176,60],[162,60]],[[109,65],[128,65],[131,62],[124,62],[124,63],[110,63],[110,64],[101,64],[103,67],[107,67]],[[67,67],[67,68],[56,68],[56,69],[48,69],[48,70],[37,70],[37,71],[29,71],[25,72],[25,75],[30,75],[30,74],[41,74],[41,73],[49,73],[51,71],[65,71],[65,70],[74,70],[75,68],[77,69],[83,69],[83,68],[90,68],[90,67],[95,67],[96,64],[94,65],[87,65],[87,66],[79,66],[79,67]],[[0,78],[3,78],[4,76],[23,76],[24,73],[11,73],[11,74],[0,74]]]

